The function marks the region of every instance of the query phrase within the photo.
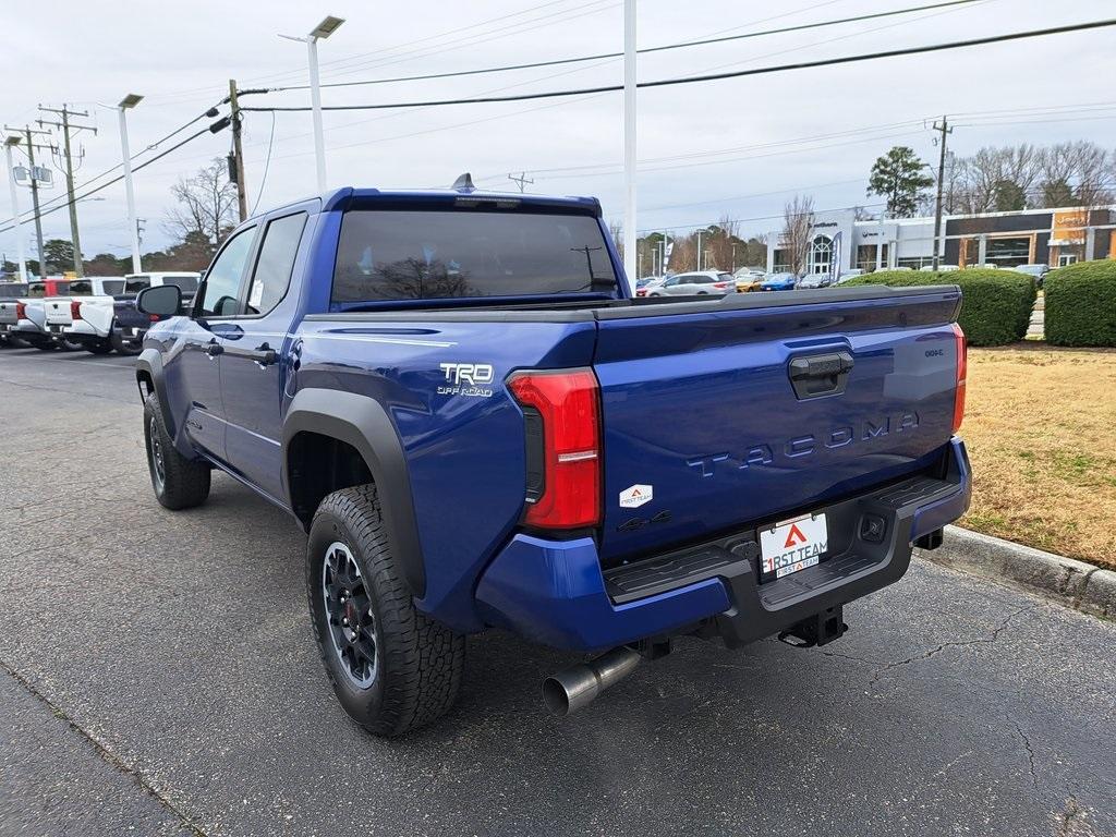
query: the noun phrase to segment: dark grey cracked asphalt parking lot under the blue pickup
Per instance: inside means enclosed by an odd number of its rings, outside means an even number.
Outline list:
[[[458,709],[333,699],[305,537],[152,497],[131,360],[0,350],[0,835],[1113,835],[1116,626],[916,561],[809,651],[683,642],[584,713],[490,633]]]

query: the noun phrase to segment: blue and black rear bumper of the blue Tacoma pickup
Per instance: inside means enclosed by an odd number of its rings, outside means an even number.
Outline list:
[[[816,509],[829,520],[831,557],[776,581],[759,583],[754,529],[604,573],[591,538],[518,535],[481,577],[478,607],[489,624],[571,651],[699,627],[732,645],[759,639],[902,578],[914,541],[969,508],[960,439],[949,445],[944,471]]]

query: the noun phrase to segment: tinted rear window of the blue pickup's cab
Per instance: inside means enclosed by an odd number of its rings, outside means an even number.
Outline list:
[[[354,210],[341,221],[333,301],[615,291],[590,215]]]

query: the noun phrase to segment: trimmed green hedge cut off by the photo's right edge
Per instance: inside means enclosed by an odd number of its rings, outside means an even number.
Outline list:
[[[1046,338],[1055,346],[1116,346],[1116,260],[1079,261],[1047,273]]]

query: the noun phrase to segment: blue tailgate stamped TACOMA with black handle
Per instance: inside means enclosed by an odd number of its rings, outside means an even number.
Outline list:
[[[598,316],[606,562],[936,459],[953,430],[960,292],[860,290]]]

